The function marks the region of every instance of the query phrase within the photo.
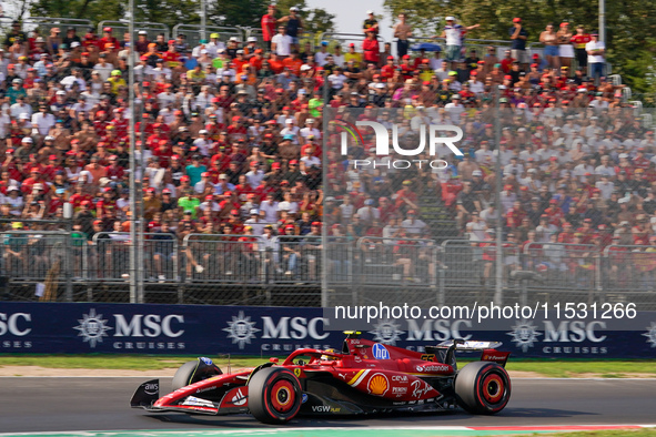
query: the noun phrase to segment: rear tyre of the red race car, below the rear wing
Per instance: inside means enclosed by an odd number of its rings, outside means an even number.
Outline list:
[[[455,377],[455,396],[472,414],[496,414],[511,398],[511,377],[496,363],[470,363]]]

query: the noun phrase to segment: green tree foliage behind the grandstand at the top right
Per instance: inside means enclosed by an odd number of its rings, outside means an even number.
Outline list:
[[[597,30],[598,2],[579,0],[385,0],[387,12],[406,13],[407,21],[422,34],[435,34],[444,17],[455,16],[464,26],[481,23],[471,38],[508,40],[514,17],[523,19],[528,42],[537,43],[548,22],[567,21]],[[606,0],[606,47],[613,72],[634,92],[653,92],[656,63],[656,1]],[[538,44],[539,47],[539,44]]]

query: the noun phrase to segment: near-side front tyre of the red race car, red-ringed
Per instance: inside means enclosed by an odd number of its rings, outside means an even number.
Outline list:
[[[266,367],[249,382],[249,409],[264,424],[285,424],[301,409],[301,383],[289,369]]]

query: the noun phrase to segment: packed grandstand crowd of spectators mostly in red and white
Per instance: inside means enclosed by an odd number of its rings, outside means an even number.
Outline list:
[[[0,49],[6,274],[47,272],[61,251],[49,233],[67,231],[73,278],[129,277],[133,57],[147,280],[314,283],[326,261],[335,282],[362,271],[437,286],[455,258],[485,286],[501,228],[504,281],[524,270],[558,286],[652,286],[653,126],[606,75],[595,33],[549,24],[531,50],[516,18],[507,44],[471,45],[474,27],[447,17],[416,47],[401,21],[392,45],[373,13],[350,42],[301,39],[289,13],[270,9],[259,37],[198,43],[14,21]],[[342,156],[329,119],[395,124],[402,145],[422,124],[456,125],[463,155],[359,171],[354,160],[380,159],[372,138]]]

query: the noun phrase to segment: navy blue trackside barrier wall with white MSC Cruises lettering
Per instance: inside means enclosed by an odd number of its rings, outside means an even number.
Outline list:
[[[300,347],[339,349],[344,334],[325,331],[330,325],[323,315],[322,308],[309,307],[2,303],[0,347],[13,354],[238,354],[264,362]],[[529,322],[501,319],[481,325],[444,319],[441,328],[434,321],[407,326],[394,321],[391,326],[376,319],[363,329],[363,337],[423,352],[426,345],[451,339],[456,329],[455,335],[464,338],[503,342],[499,349],[514,357],[653,358],[654,321],[656,314],[645,312],[638,313],[630,331],[625,321],[608,319],[569,333],[567,322],[542,315]]]

